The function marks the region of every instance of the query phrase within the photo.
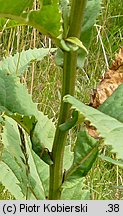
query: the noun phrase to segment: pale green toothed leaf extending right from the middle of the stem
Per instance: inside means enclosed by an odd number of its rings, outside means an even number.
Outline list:
[[[105,145],[112,146],[112,152],[117,153],[119,159],[123,158],[123,124],[97,109],[89,107],[70,95],[64,97],[64,101],[72,104],[72,109],[76,109],[97,128],[100,137],[104,139]]]

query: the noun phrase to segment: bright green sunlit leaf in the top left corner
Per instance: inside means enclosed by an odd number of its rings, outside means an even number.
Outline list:
[[[33,0],[0,0],[0,17],[30,25],[43,34],[56,38],[61,33],[61,13],[58,0],[40,0],[40,9],[33,10]]]

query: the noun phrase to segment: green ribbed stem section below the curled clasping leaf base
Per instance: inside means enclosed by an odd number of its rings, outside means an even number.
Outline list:
[[[75,86],[75,74],[76,74],[76,53],[64,53],[64,64],[63,71],[68,73],[63,75],[63,90],[62,99],[66,94],[74,94]],[[75,64],[74,64],[75,63]],[[72,67],[73,66],[73,67]],[[49,199],[60,199],[61,191],[60,186],[62,184],[62,166],[63,166],[63,154],[65,147],[65,140],[67,131],[63,132],[59,129],[59,125],[64,123],[69,116],[69,104],[61,101],[60,116],[58,125],[56,128],[56,134],[52,149],[52,159],[54,164],[50,167],[50,196]]]

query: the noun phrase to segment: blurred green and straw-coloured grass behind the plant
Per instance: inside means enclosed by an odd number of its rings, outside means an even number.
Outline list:
[[[36,2],[36,1],[35,1]],[[36,29],[19,26],[0,31],[0,60],[3,57],[34,47],[51,47],[50,39],[42,36]],[[123,1],[102,0],[101,12],[93,27],[89,55],[85,66],[78,71],[76,96],[84,103],[89,103],[90,94],[99,80],[110,67],[115,54],[123,47]],[[23,82],[38,103],[39,110],[57,122],[60,102],[62,70],[55,65],[54,55],[42,62],[33,62],[25,72]],[[68,142],[72,144],[74,132],[70,131]],[[0,143],[2,146],[2,144]],[[111,155],[108,148],[102,146],[101,153]],[[123,170],[97,159],[88,173],[85,188],[91,192],[91,199],[123,199]],[[13,199],[11,194],[0,184],[0,200]]]

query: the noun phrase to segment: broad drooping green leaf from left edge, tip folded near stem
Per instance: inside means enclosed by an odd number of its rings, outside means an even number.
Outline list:
[[[0,111],[13,117],[13,119],[17,120],[18,123],[20,121],[19,115],[34,116],[34,122],[31,124],[35,125],[35,122],[37,123],[33,131],[33,137],[35,137],[35,140],[32,140],[34,141],[33,147],[37,145],[37,142],[42,150],[45,149],[44,145],[46,145],[47,148],[52,146],[55,132],[55,126],[52,120],[49,120],[47,116],[38,111],[37,105],[33,103],[27,89],[19,82],[19,78],[13,74],[8,74],[5,71],[0,71]],[[17,114],[15,118],[15,113],[19,113],[18,119]],[[29,118],[32,121],[32,117]],[[25,121],[23,121],[23,124],[21,122],[20,125],[25,129],[27,127],[27,123],[25,122],[24,125],[24,122]],[[28,128],[28,130],[30,129]],[[43,152],[44,154],[42,157],[46,156],[46,161],[49,163],[49,154],[47,151]],[[43,160],[45,160],[45,158],[43,158]]]

